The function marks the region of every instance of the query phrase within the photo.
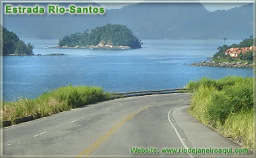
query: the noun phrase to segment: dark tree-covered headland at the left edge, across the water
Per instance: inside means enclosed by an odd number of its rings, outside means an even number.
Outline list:
[[[8,31],[5,27],[3,29],[3,55],[15,54],[17,56],[32,55],[33,48],[30,43],[25,44],[13,32]]]

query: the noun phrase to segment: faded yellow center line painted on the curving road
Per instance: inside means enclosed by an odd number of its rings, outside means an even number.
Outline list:
[[[146,110],[147,108],[150,108],[152,106],[156,106],[156,105],[150,105],[150,106],[146,106],[141,108],[139,111],[135,112],[135,113],[131,113],[129,114],[127,117],[123,118],[122,121],[120,121],[120,123],[118,123],[117,125],[115,125],[114,127],[112,127],[112,129],[110,129],[108,132],[104,133],[104,135],[102,135],[102,137],[100,137],[100,139],[98,139],[97,141],[95,141],[94,143],[92,143],[92,145],[90,145],[89,147],[87,147],[84,151],[82,151],[82,153],[80,153],[77,157],[81,157],[82,155],[84,155],[83,157],[88,157],[89,155],[91,155],[92,152],[94,152],[102,143],[104,143],[104,141],[106,141],[111,135],[113,135],[113,133],[115,133],[115,131],[117,131],[117,129],[119,129],[119,127],[121,127],[123,124],[125,124],[127,121],[131,120],[131,118],[133,118],[136,114],[139,114],[139,112]],[[76,158],[77,158],[76,157]]]

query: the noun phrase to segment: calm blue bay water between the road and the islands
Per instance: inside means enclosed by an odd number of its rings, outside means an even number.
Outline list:
[[[192,67],[216,52],[223,40],[143,40],[142,49],[54,49],[57,40],[23,39],[34,54],[3,57],[3,99],[35,98],[60,86],[102,86],[108,92],[182,88],[203,76],[253,76],[253,69]],[[226,44],[240,41],[227,41]]]

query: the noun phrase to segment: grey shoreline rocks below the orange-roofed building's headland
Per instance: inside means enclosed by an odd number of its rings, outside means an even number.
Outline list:
[[[207,61],[204,60],[199,63],[194,63],[192,66],[216,66],[216,67],[228,67],[228,68],[253,68],[254,63],[250,64],[249,62],[216,62],[216,61]]]

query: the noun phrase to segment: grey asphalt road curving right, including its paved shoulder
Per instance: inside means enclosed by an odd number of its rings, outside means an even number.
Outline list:
[[[164,148],[241,149],[191,117],[191,94],[120,98],[3,129],[3,155],[183,155]],[[156,153],[131,153],[131,147]],[[213,153],[202,155],[214,155]],[[222,154],[220,154],[222,155]]]

